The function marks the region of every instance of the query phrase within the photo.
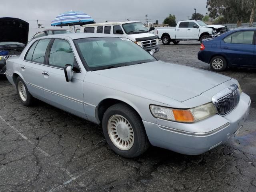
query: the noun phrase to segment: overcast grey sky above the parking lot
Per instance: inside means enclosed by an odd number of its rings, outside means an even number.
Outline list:
[[[169,14],[176,21],[187,20],[196,11],[205,14],[206,0],[4,0],[0,17],[16,17],[36,28],[36,19],[45,27],[60,13],[76,10],[89,14],[96,22],[125,21],[128,18],[162,23]]]

